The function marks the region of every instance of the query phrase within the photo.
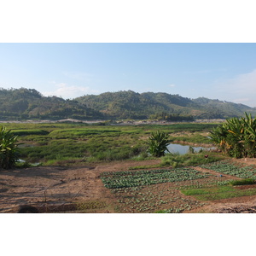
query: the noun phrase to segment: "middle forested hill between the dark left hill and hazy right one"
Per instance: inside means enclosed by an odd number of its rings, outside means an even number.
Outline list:
[[[195,102],[166,93],[139,94],[128,90],[82,96],[76,100],[108,116],[123,119],[154,119],[163,114],[189,116],[201,113],[200,106]]]

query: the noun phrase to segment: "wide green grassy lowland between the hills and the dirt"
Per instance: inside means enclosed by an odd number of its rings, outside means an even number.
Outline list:
[[[214,124],[174,125],[87,125],[79,123],[4,124],[19,132],[22,140],[20,158],[49,165],[83,159],[86,162],[150,159],[147,137],[153,131],[181,133],[181,140],[208,143],[206,135]],[[22,136],[21,136],[22,135]],[[173,138],[173,137],[172,137]],[[196,154],[195,154],[196,155]],[[209,159],[212,158],[213,155]],[[153,156],[151,158],[154,158]],[[191,157],[191,160],[194,156]],[[195,160],[196,161],[196,160]],[[207,162],[205,162],[207,163]],[[168,165],[167,165],[168,166]],[[170,166],[170,165],[169,165]],[[172,165],[171,165],[172,166]],[[160,166],[159,166],[160,167]]]

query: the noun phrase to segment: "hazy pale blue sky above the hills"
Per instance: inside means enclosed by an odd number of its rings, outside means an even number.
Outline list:
[[[256,44],[0,44],[0,87],[73,98],[134,90],[256,107]]]

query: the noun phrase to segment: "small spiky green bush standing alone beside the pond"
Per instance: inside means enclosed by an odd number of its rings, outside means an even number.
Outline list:
[[[164,131],[154,131],[151,136],[148,137],[148,153],[156,157],[160,157],[169,152],[167,146],[172,141],[169,139],[169,135]]]

